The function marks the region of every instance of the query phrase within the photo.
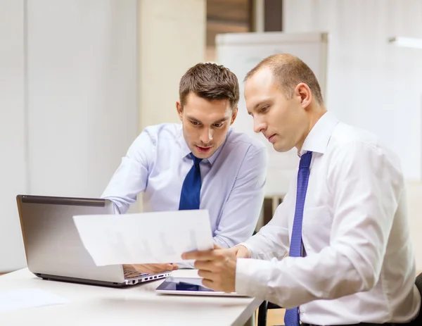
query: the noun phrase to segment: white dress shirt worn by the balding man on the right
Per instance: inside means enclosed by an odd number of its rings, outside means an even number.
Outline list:
[[[316,325],[416,317],[421,296],[397,156],[330,113],[309,132],[305,151],[313,152],[302,226],[307,256],[283,258],[296,173],[274,218],[243,244],[255,259],[238,259],[236,291],[300,306],[300,320]]]

